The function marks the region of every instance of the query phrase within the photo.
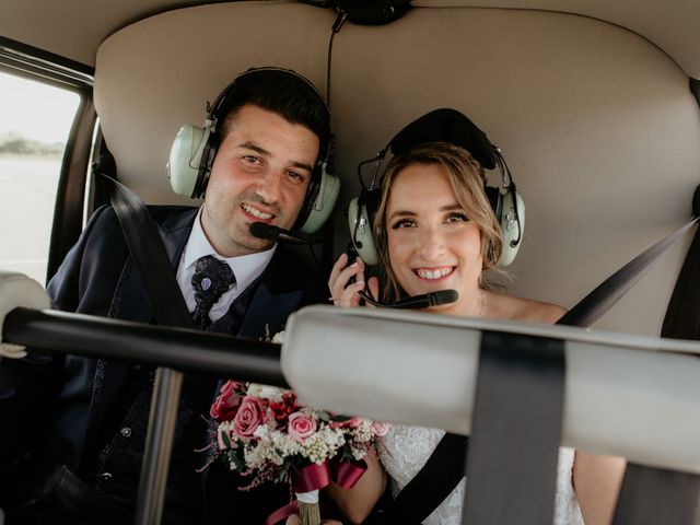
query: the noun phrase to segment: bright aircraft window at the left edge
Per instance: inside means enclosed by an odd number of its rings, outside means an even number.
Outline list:
[[[0,269],[44,283],[56,190],[80,95],[0,72]]]

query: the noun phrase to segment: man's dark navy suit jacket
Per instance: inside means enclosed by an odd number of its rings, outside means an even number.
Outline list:
[[[197,209],[153,207],[151,214],[173,268],[177,268]],[[260,338],[266,335],[266,329],[270,334],[280,331],[294,310],[324,301],[324,290],[325,285],[301,257],[278,246],[260,278],[238,335]],[[108,207],[93,214],[79,242],[51,279],[48,292],[57,310],[141,323],[153,320],[141,277],[131,264],[114,210]],[[18,433],[13,439],[5,440],[9,443],[0,441],[0,447],[3,444],[14,446],[15,451],[23,450],[23,457],[35,458],[34,467],[22,466],[19,469],[22,474],[31,472],[28,477],[46,479],[47,475],[42,470],[46,470],[47,465],[65,466],[69,472],[78,472],[88,486],[94,487],[96,480],[104,480],[109,472],[91,471],[88,463],[101,453],[116,432],[124,431],[119,428],[126,410],[121,406],[124,388],[133,368],[75,355],[39,352],[35,352],[35,355],[24,370],[1,372],[9,377],[11,387],[4,392],[0,387],[0,410],[5,413],[11,411],[15,416],[23,411],[37,413],[35,410],[46,413],[47,399],[51,399],[48,412],[51,415],[48,418],[50,430],[44,433],[44,438],[50,435],[50,439],[36,440],[35,436]],[[36,377],[39,377],[40,393],[26,386],[30,378],[36,381]],[[209,399],[213,400],[214,395],[212,387]],[[20,424],[31,422],[25,420]],[[45,424],[49,425],[49,422]],[[206,427],[203,422],[202,427]],[[37,450],[40,452],[37,453]],[[12,459],[4,459],[5,465],[12,463]],[[203,500],[207,500],[206,515],[212,523],[221,523],[221,520],[226,523],[262,523],[269,512],[289,501],[289,491],[279,487],[256,489],[255,493],[240,492],[232,477],[229,471],[217,471],[215,476],[207,476],[209,479],[202,483],[206,492]],[[133,482],[138,485],[138,479]],[[34,480],[31,485],[36,486]],[[108,492],[108,488],[104,487],[105,483],[102,483],[101,488]],[[26,490],[31,495],[28,502],[32,503],[42,500],[40,492],[51,488],[44,482],[38,489],[32,487]],[[200,498],[200,494],[191,497]],[[167,516],[164,522],[167,523]]]

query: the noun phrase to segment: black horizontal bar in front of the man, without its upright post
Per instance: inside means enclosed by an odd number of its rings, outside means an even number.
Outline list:
[[[280,365],[280,345],[225,334],[15,308],[5,317],[2,340],[75,355],[289,387]]]

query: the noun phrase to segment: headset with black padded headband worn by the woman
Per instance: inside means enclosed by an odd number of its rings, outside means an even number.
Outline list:
[[[503,191],[498,187],[486,186],[486,183],[483,189],[503,233],[503,252],[499,266],[510,265],[523,240],[525,228],[523,199],[515,188],[511,171],[501,151],[471,120],[455,109],[434,109],[413,120],[400,130],[375,159],[360,164],[359,170],[363,164],[375,161],[370,187],[365,186],[360,175],[362,185],[360,196],[352,199],[348,208],[350,238],[358,255],[371,266],[380,260],[373,226],[382,192],[382,177],[378,176],[378,172],[387,151],[390,150],[394,155],[398,155],[428,142],[448,142],[464,148],[485,170],[493,170],[498,165]]]

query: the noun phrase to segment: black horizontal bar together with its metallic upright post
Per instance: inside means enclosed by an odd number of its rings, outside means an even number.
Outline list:
[[[2,340],[63,353],[159,366],[139,481],[138,525],[158,525],[162,520],[183,383],[179,371],[289,386],[280,366],[280,345],[224,334],[15,308],[5,317]]]

